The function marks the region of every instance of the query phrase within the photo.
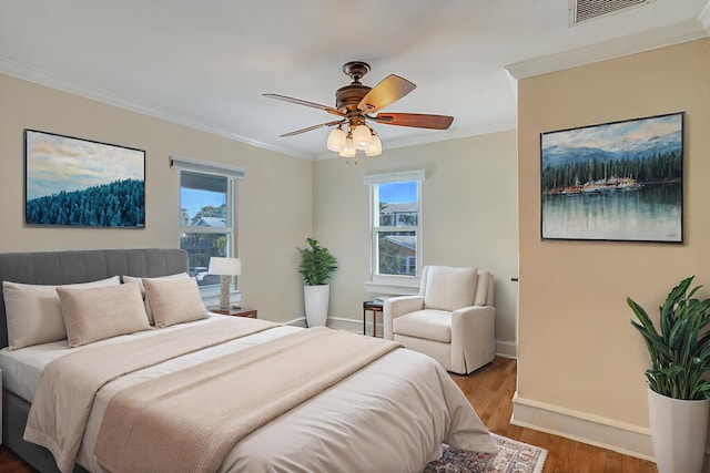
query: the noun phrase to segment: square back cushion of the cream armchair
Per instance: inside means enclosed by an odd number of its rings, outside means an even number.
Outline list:
[[[427,271],[424,307],[453,311],[474,304],[476,268],[429,266]]]

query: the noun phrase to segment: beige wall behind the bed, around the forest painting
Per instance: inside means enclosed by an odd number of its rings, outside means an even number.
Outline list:
[[[145,150],[145,229],[26,227],[24,128]],[[2,74],[0,251],[179,247],[173,154],[245,168],[236,193],[243,302],[276,321],[303,316],[295,247],[312,232],[312,163]]]

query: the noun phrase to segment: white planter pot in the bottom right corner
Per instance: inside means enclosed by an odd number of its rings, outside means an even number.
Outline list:
[[[648,413],[658,473],[700,473],[710,400],[683,401],[648,388]]]

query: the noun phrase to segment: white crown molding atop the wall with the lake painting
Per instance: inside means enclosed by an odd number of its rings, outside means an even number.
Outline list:
[[[710,37],[710,11],[708,10],[709,7],[706,6],[697,20],[683,21],[667,28],[648,30],[558,54],[517,62],[506,65],[505,69],[516,80],[520,80],[708,38]]]

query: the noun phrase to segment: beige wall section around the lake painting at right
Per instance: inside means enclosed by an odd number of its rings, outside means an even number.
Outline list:
[[[519,82],[518,395],[529,404],[648,425],[648,356],[626,297],[657,316],[681,278],[710,286],[709,58],[710,40],[701,40]],[[679,111],[683,245],[540,240],[540,132]]]

